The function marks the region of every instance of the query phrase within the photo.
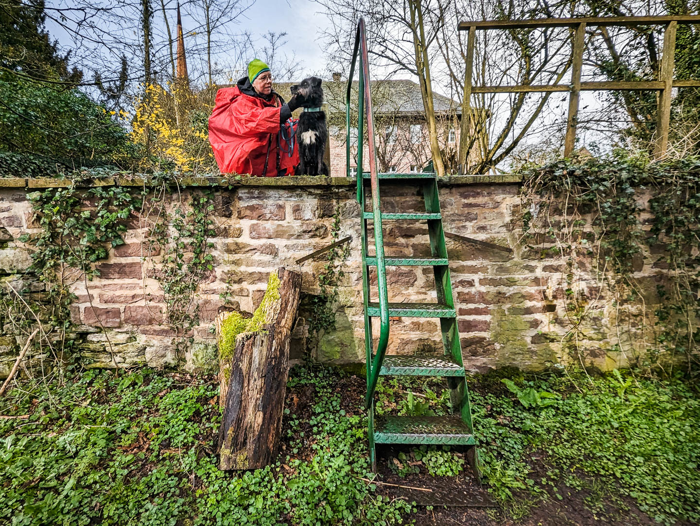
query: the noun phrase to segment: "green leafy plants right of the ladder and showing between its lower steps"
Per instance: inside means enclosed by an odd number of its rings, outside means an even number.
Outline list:
[[[439,383],[382,378],[377,411],[405,411],[407,390],[439,391]],[[633,499],[660,523],[700,520],[700,393],[692,384],[641,380],[617,370],[596,379],[524,379],[517,373],[501,379],[494,373],[470,383],[482,473],[504,504],[561,498],[561,483],[579,489],[592,484],[598,492]],[[449,411],[445,393],[433,397],[430,411]],[[454,475],[463,458],[421,446],[399,452],[389,465],[401,476]],[[590,506],[601,503],[591,500]]]

